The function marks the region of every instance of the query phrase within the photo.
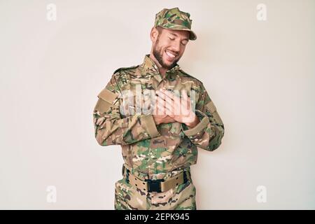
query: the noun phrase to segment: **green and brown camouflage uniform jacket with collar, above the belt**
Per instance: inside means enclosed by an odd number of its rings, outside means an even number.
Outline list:
[[[123,116],[121,92],[141,90],[195,90],[195,113],[200,123],[188,129],[182,123],[155,125],[152,114]],[[200,80],[176,64],[162,78],[146,55],[143,64],[117,69],[98,94],[94,107],[94,134],[101,146],[121,145],[125,164],[144,174],[159,174],[189,167],[197,162],[197,148],[214,151],[221,145],[224,125],[214,102]],[[144,99],[145,100],[145,99]]]

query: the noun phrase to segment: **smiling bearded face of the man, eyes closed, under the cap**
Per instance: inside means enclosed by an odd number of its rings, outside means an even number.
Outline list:
[[[189,41],[189,31],[160,28],[153,43],[153,55],[165,69],[171,69],[181,59]]]

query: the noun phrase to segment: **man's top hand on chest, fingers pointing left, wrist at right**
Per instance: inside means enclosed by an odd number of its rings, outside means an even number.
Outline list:
[[[157,90],[156,93],[158,94],[157,101],[164,102],[164,105],[158,105],[164,106],[167,116],[190,128],[200,123],[199,118],[191,109],[190,97],[187,92],[182,92],[182,99],[167,90]]]

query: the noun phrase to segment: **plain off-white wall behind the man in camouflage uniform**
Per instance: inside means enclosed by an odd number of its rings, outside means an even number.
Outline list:
[[[315,209],[312,0],[0,1],[0,209],[113,209],[123,158],[97,144],[92,110],[113,71],[150,52],[155,13],[173,7],[197,34],[179,65],[225,124],[220,148],[191,167],[197,209]]]

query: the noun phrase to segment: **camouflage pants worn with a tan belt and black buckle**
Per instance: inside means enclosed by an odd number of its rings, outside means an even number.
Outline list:
[[[132,169],[130,169],[132,170]],[[186,168],[190,172],[190,167]],[[132,170],[132,173],[140,179],[168,179],[181,171],[172,171],[162,174],[140,174]],[[189,175],[190,176],[190,175]],[[115,183],[115,206],[116,210],[195,210],[196,188],[191,178],[176,188],[162,193],[149,193],[140,190],[123,178]]]

